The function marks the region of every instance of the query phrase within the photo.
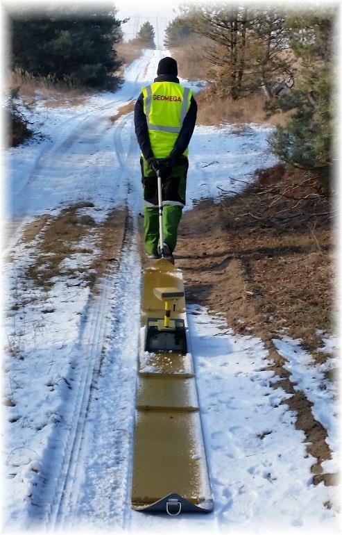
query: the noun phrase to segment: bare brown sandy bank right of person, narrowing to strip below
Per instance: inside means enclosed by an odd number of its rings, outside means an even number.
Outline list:
[[[292,394],[287,404],[297,413],[296,427],[305,432],[307,451],[317,459],[311,468],[314,481],[334,484],[336,477],[323,474],[320,466],[330,459],[326,431],[314,419],[311,402],[293,389],[284,358],[271,341],[286,327],[286,334],[302,338],[316,359],[327,358],[315,349],[321,345],[316,329],[334,330],[334,245],[325,214],[329,201],[317,192],[314,179],[307,181],[299,173],[282,176],[282,188],[290,193],[273,203],[279,192],[270,183],[280,179],[279,170],[273,179],[266,178],[261,176],[259,185],[242,195],[220,204],[202,201],[185,213],[176,265],[185,277],[187,302],[220,311],[234,331],[262,338],[282,387]],[[298,197],[303,199],[299,203]]]

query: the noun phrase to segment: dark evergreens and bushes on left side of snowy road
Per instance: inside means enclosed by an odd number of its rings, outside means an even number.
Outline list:
[[[134,40],[123,42],[122,24],[127,21],[117,18],[114,6],[8,10],[10,145],[32,135],[23,108],[29,110],[37,97],[52,93],[82,101],[84,92],[119,88],[123,63],[139,57],[143,48],[155,48],[149,22]]]

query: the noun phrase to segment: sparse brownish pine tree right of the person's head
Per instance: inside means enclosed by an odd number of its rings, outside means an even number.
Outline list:
[[[237,100],[260,88],[270,95],[277,78],[289,76],[280,9],[210,3],[184,8],[183,13],[188,26],[210,40],[205,51],[212,65],[208,75],[221,96]]]

